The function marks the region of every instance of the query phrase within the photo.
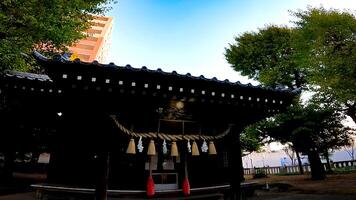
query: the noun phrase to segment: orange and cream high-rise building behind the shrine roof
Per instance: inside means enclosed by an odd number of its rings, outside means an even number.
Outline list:
[[[85,31],[88,37],[68,47],[73,57],[85,62],[97,60],[105,63],[111,43],[112,27],[112,17],[94,16],[90,29]]]

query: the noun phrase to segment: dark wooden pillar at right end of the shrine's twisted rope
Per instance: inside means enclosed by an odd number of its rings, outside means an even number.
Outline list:
[[[241,181],[243,175],[240,131],[236,125],[231,127],[229,134],[229,173],[231,185],[231,199],[241,199]]]

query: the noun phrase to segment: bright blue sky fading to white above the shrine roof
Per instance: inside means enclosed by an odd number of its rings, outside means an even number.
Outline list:
[[[289,10],[321,4],[356,10],[355,0],[118,0],[107,13],[114,17],[107,62],[251,82],[225,61],[234,36],[290,25]]]

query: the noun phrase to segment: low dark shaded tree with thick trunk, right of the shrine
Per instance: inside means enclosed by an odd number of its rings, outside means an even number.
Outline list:
[[[350,142],[348,128],[344,127],[344,115],[329,107],[310,104],[293,106],[285,113],[277,114],[254,124],[262,135],[281,143],[292,143],[293,148],[308,155],[315,180],[325,177],[320,154],[341,148]],[[249,129],[248,127],[247,129]]]

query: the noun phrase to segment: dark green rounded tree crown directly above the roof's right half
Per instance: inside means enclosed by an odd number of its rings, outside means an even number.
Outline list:
[[[293,59],[292,35],[292,29],[274,25],[243,33],[225,49],[226,60],[241,75],[265,86],[301,88],[305,72]]]

